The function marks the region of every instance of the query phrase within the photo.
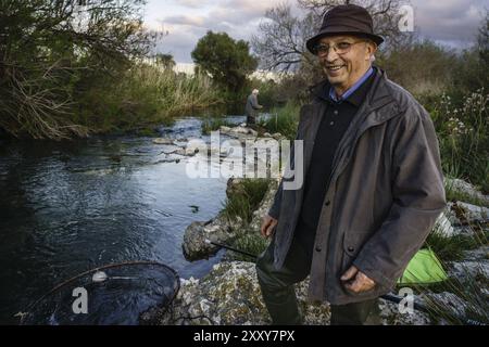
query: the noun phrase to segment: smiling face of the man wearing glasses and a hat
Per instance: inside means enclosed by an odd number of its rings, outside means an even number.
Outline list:
[[[323,70],[331,86],[341,92],[350,88],[368,69],[371,55],[376,50],[373,42],[354,36],[324,37],[318,41],[318,47],[317,56]]]

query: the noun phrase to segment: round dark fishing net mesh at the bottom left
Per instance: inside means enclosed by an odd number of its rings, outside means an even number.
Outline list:
[[[167,308],[178,290],[177,272],[165,265],[110,265],[86,271],[45,294],[27,309],[21,324],[135,325],[145,311]]]

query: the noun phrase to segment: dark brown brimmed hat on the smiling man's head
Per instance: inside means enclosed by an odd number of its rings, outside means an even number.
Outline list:
[[[319,31],[310,38],[305,46],[311,53],[315,53],[314,47],[317,41],[325,36],[333,35],[365,37],[377,46],[384,42],[380,36],[374,34],[374,24],[368,11],[356,4],[340,4],[326,12]]]

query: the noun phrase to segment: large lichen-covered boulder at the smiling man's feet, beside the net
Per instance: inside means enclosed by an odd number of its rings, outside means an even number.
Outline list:
[[[325,324],[329,320],[326,304],[305,301],[306,283],[297,286],[298,303],[306,324]],[[305,308],[305,310],[304,310]],[[160,313],[160,314],[159,314]],[[269,324],[262,300],[254,264],[224,261],[200,280],[183,280],[172,309],[147,318],[152,323],[189,325]]]

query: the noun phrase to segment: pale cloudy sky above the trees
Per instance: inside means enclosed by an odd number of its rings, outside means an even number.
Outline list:
[[[265,11],[284,0],[148,0],[145,25],[167,33],[156,51],[178,63],[191,63],[190,52],[208,30],[225,31],[234,39],[250,40],[258,34]],[[286,1],[287,2],[287,1]],[[288,3],[300,15],[296,1]],[[489,9],[488,0],[411,0],[414,25],[421,36],[454,48],[466,48]]]

